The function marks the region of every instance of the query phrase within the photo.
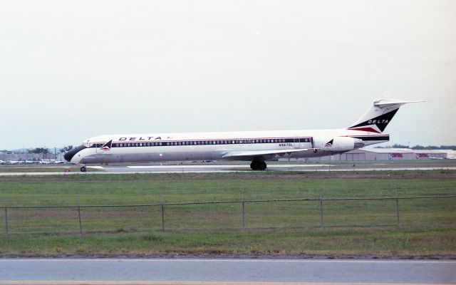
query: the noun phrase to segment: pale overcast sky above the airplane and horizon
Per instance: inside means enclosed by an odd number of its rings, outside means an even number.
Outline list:
[[[346,128],[456,144],[456,1],[1,1],[0,149]],[[385,144],[384,144],[385,145]]]

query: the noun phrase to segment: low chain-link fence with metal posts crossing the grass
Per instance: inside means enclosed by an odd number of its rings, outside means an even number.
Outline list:
[[[456,195],[1,206],[0,234],[456,226]]]

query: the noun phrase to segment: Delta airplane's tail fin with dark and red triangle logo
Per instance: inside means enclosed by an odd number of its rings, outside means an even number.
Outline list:
[[[365,132],[383,133],[388,123],[393,119],[400,106],[407,103],[425,101],[403,101],[395,99],[379,99],[373,101],[364,115],[356,121],[348,130],[363,130]]]

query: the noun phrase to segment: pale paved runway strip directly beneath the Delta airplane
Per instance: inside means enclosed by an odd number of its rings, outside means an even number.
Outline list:
[[[75,175],[75,174],[125,174],[125,173],[213,173],[213,172],[254,172],[249,165],[125,165],[125,166],[87,166],[87,172],[0,172],[0,176],[21,176],[21,175]],[[290,172],[344,172],[344,171],[397,171],[397,170],[456,170],[456,166],[420,166],[415,165],[298,165],[298,164],[270,164],[265,170],[290,171]]]

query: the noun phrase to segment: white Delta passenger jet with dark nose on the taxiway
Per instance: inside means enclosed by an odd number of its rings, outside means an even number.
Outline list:
[[[334,130],[100,135],[64,158],[81,164],[82,172],[88,164],[186,160],[250,161],[252,170],[266,170],[267,160],[322,157],[388,142],[383,131],[400,106],[418,102],[424,101],[374,100],[353,125]]]

